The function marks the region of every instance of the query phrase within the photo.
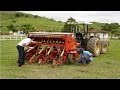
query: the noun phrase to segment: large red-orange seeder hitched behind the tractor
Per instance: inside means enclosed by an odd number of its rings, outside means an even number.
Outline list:
[[[79,54],[73,33],[30,32],[29,38],[41,44],[31,44],[34,49],[26,52],[29,63],[46,64],[52,62],[54,67],[66,62],[73,63]]]

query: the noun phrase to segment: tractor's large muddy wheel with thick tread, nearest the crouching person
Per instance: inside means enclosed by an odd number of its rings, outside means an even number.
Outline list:
[[[100,55],[100,40],[97,37],[92,37],[87,42],[87,50],[93,53],[93,56]]]

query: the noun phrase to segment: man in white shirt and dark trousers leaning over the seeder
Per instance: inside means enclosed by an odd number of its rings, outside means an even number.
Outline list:
[[[28,47],[29,49],[33,49],[34,47],[29,47],[28,45],[30,43],[40,43],[33,41],[31,38],[25,38],[22,41],[20,41],[17,45],[18,53],[19,53],[19,58],[18,58],[18,66],[21,67],[24,65],[25,62],[25,51],[24,47]]]

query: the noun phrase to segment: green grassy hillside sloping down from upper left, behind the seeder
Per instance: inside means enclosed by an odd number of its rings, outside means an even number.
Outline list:
[[[55,21],[53,19],[25,14],[17,11],[1,11],[0,17],[0,27],[2,28],[1,32],[9,32],[6,26],[8,26],[13,20],[16,21],[16,25],[31,24],[36,28],[36,30],[44,31],[61,31],[64,26],[64,23]]]

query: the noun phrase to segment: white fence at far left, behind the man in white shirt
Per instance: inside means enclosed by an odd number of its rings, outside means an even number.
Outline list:
[[[22,40],[26,38],[25,35],[0,35],[0,40]]]

